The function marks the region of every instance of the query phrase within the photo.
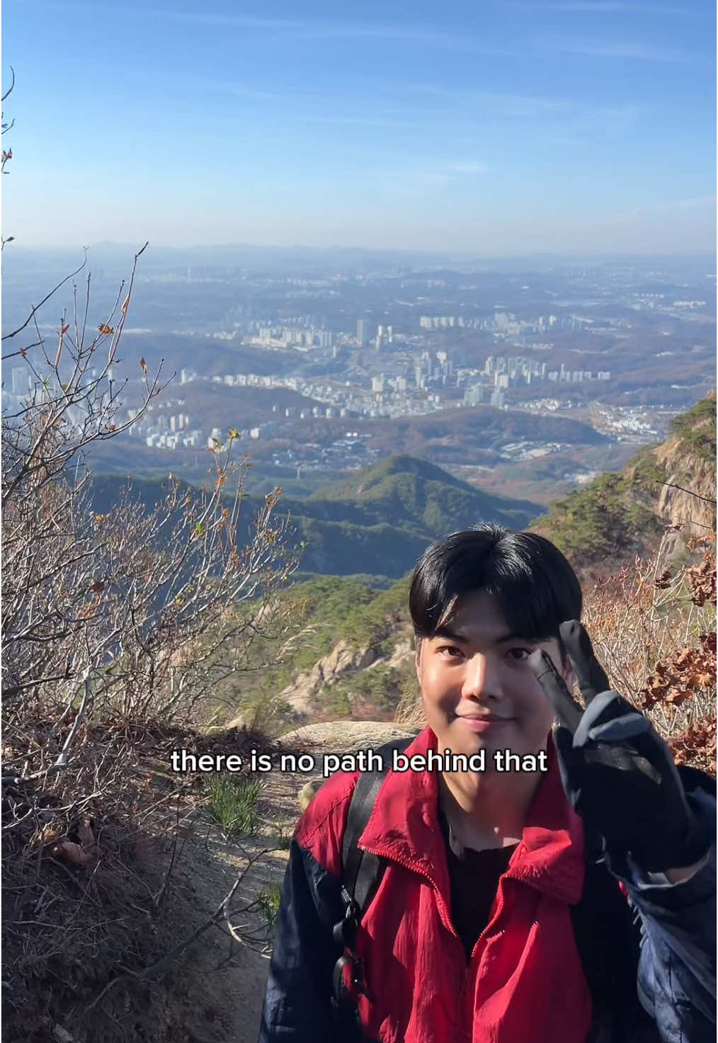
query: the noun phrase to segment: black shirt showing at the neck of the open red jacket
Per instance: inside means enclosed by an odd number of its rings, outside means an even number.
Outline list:
[[[463,942],[469,963],[479,935],[488,924],[488,914],[494,904],[499,877],[506,872],[511,855],[519,845],[486,848],[484,851],[464,848],[463,857],[459,857],[449,844],[449,823],[440,809],[438,821],[447,847],[451,883],[451,921]]]

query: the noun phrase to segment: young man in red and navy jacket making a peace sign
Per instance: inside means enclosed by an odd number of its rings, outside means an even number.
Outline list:
[[[405,754],[444,760],[389,771],[359,841],[385,869],[353,947],[361,988],[343,978],[357,1036],[713,1041],[712,780],[679,775],[647,719],[607,690],[585,631],[567,623],[581,614],[569,563],[531,533],[455,533],[420,561],[410,610],[428,727]],[[331,1003],[357,777],[332,776],[297,824],[260,1043],[357,1038]],[[611,916],[584,894],[597,851]]]

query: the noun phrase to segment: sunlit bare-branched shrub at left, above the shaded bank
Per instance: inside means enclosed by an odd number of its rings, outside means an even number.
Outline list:
[[[107,378],[131,284],[117,324],[111,315],[90,343],[83,320],[73,335],[63,323],[52,359],[38,332],[30,347],[39,348],[41,365],[29,347],[10,353],[37,378],[20,410],[2,421],[3,695],[10,729],[30,705],[56,714],[56,730],[78,720],[78,705],[82,713],[133,720],[187,714],[239,668],[253,635],[270,623],[270,595],[294,565],[288,523],[272,517],[279,490],[265,498],[252,529],[241,518],[246,458],[233,470],[236,432],[225,451],[213,453],[209,492],[170,479],[151,511],[129,490],[107,513],[93,511],[83,451],[131,422],[115,422],[126,381],[115,387]],[[62,369],[66,354],[69,372]],[[162,390],[144,361],[142,369],[138,415]],[[43,752],[30,757],[35,771],[50,767]]]

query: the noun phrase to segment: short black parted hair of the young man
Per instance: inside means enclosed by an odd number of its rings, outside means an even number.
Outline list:
[[[416,639],[432,637],[458,599],[473,591],[495,597],[511,632],[528,640],[558,638],[565,620],[581,617],[580,584],[557,547],[532,532],[479,525],[422,555],[409,592]]]

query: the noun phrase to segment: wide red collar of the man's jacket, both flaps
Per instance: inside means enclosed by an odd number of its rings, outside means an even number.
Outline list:
[[[436,735],[425,728],[405,753],[426,755],[437,749]],[[548,771],[504,876],[575,904],[581,896],[585,868],[583,824],[564,793],[551,735],[547,753]],[[449,870],[438,822],[437,773],[389,771],[359,847],[413,869],[447,894]]]

